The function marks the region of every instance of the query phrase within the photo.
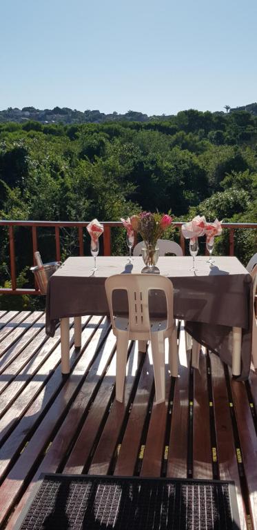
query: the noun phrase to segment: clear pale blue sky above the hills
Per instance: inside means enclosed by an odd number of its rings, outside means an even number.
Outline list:
[[[0,109],[257,101],[256,0],[1,0]]]

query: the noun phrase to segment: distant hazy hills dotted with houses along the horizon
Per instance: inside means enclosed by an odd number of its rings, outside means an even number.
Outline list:
[[[229,112],[235,112],[238,110],[246,110],[252,115],[257,116],[257,103],[251,103],[242,107],[229,108]],[[224,112],[215,112],[215,114],[223,114]],[[17,123],[24,123],[28,120],[39,121],[41,124],[101,124],[106,121],[151,121],[156,119],[169,120],[172,115],[154,115],[147,116],[142,112],[135,112],[129,110],[125,114],[118,114],[118,112],[112,112],[112,114],[105,114],[100,110],[72,110],[68,107],[54,107],[52,109],[45,108],[43,110],[34,107],[23,107],[19,109],[17,107],[9,107],[6,110],[0,110],[0,124],[6,121],[16,121]]]

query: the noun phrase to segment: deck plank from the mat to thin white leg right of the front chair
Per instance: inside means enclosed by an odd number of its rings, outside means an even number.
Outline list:
[[[193,476],[212,480],[212,449],[209,424],[206,355],[200,353],[199,369],[194,369]]]

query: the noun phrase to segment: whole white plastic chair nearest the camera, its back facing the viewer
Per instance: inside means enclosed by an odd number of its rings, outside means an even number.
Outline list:
[[[167,318],[150,320],[148,297],[151,290],[164,291],[167,303]],[[112,293],[127,291],[129,316],[115,317]],[[173,316],[173,286],[164,276],[154,274],[119,274],[105,280],[105,291],[110,310],[112,330],[117,337],[116,344],[116,400],[123,402],[127,348],[129,340],[150,340],[154,365],[156,403],[165,400],[165,338],[169,339],[169,369],[171,375],[178,375],[178,346],[176,324]],[[139,345],[140,346],[140,345]]]

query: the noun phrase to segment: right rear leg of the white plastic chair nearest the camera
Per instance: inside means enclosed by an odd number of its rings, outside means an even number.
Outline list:
[[[164,338],[161,333],[151,333],[152,360],[154,364],[155,402],[165,401]]]

